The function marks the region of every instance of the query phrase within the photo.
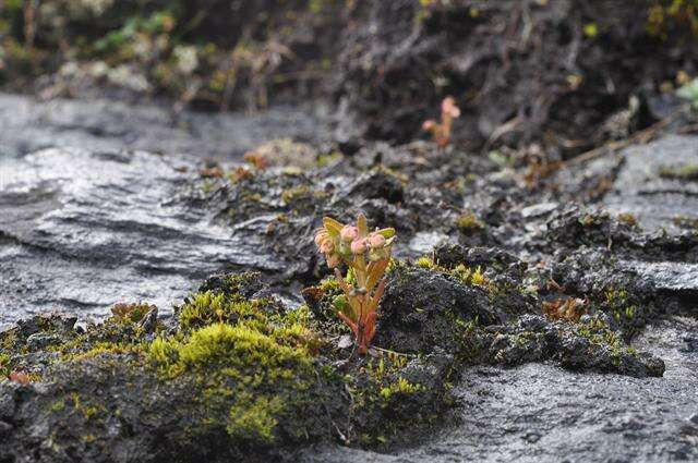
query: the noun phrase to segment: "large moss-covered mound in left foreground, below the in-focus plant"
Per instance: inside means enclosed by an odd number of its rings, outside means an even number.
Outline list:
[[[382,447],[446,405],[452,357],[349,357],[306,307],[256,298],[260,289],[256,275],[214,277],[171,326],[123,316],[134,308],[84,331],[53,315],[3,332],[3,370],[34,382],[0,385],[0,461],[262,461],[316,441]],[[56,339],[29,345],[37,334]]]

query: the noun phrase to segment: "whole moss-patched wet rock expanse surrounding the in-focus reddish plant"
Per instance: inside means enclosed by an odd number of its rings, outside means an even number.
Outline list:
[[[673,168],[690,165],[694,144],[665,137],[574,167],[559,178],[577,180],[559,190],[531,187],[520,172],[428,143],[344,154],[309,145],[301,169],[285,160],[243,173],[236,162],[107,147],[3,157],[0,322],[52,308],[81,322],[36,317],[2,333],[0,367],[35,376],[0,386],[0,432],[11,442],[0,456],[698,458],[698,241],[685,226],[661,231],[674,215],[689,215],[683,208],[695,181],[655,165],[639,186],[628,176],[650,165],[649,154]],[[605,195],[582,194],[609,178]],[[642,193],[664,182],[671,202]],[[573,197],[589,199],[568,204]],[[347,330],[332,312],[337,289],[321,281],[327,270],[312,244],[322,216],[346,220],[359,210],[399,236],[401,263],[388,271],[375,342],[405,360],[378,354],[387,371],[377,358],[349,357]],[[238,277],[219,276],[198,289],[201,298],[184,298],[224,270],[255,270],[261,280],[227,290]],[[299,290],[311,285],[309,314],[298,318]],[[225,309],[215,308],[218,294]],[[139,302],[157,305],[160,321],[149,305],[109,315],[116,303]],[[107,321],[84,327],[89,316]],[[303,378],[302,391],[243,380],[250,364],[228,363],[240,353],[194,355],[210,337],[248,329]],[[288,375],[270,365],[268,378]],[[151,392],[124,393],[129,387]],[[264,398],[253,416],[237,402],[244,393]],[[277,406],[293,394],[299,402]],[[200,406],[193,414],[164,413],[190,402]],[[434,424],[434,416],[446,419]]]

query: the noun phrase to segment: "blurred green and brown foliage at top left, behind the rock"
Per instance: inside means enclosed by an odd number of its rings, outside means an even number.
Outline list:
[[[0,83],[22,88],[43,74],[79,74],[224,109],[243,89],[244,103],[265,106],[272,87],[296,82],[300,65],[327,69],[329,56],[296,60],[294,36],[305,32],[312,37],[318,25],[336,21],[336,9],[346,4],[0,0]],[[26,8],[32,8],[28,15]]]

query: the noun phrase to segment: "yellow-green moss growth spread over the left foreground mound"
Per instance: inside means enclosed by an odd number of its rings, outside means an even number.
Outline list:
[[[352,442],[366,435],[369,444],[378,444],[442,405],[437,393],[404,377],[408,361],[418,357],[386,351],[340,369],[346,352],[335,349],[332,331],[320,331],[324,325],[309,307],[251,301],[246,295],[258,291],[257,283],[250,275],[208,279],[179,309],[180,329],[160,330],[154,340],[124,322],[128,316],[68,337],[51,348],[63,365],[47,371],[70,371],[71,379],[41,410],[52,419],[68,415],[80,436],[93,432],[100,441],[120,409],[159,423],[161,411],[172,407],[182,438],[216,436],[234,453],[330,439],[333,423],[341,423]],[[321,287],[340,291],[329,280]],[[149,392],[132,393],[140,389]],[[115,394],[113,405],[103,391]]]

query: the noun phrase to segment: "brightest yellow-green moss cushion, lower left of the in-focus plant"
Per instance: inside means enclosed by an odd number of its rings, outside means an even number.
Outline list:
[[[313,360],[298,324],[266,328],[217,322],[183,340],[157,339],[149,358],[166,378],[193,375],[201,406],[231,437],[272,442],[284,412],[311,399]]]

